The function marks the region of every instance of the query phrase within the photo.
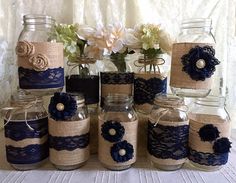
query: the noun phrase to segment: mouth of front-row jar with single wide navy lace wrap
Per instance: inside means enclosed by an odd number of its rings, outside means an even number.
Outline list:
[[[154,104],[160,107],[178,108],[184,105],[184,99],[171,94],[156,94]]]

